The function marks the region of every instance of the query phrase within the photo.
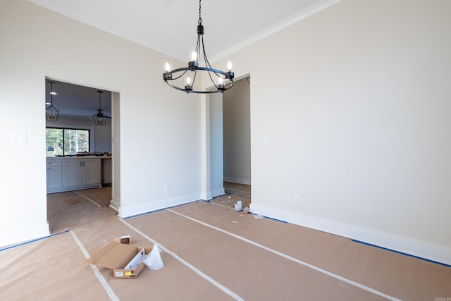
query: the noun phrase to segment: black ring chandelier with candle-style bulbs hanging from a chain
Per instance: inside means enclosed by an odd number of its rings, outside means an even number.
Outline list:
[[[205,47],[204,47],[204,25],[202,25],[201,18],[201,5],[199,0],[199,20],[197,21],[197,44],[195,49],[192,49],[191,52],[191,61],[188,62],[188,66],[185,68],[178,68],[175,70],[171,70],[171,64],[166,62],[165,69],[166,72],[163,73],[163,80],[173,87],[174,89],[184,91],[187,93],[223,93],[226,90],[229,90],[233,87],[233,78],[234,74],[232,71],[232,63],[229,61],[227,64],[228,71],[221,71],[218,69],[211,68],[209,60],[206,58]],[[205,67],[199,66],[199,62],[201,59],[201,52],[203,56],[203,61]],[[194,81],[196,80],[197,71],[205,71],[208,73],[211,82],[216,87],[216,90],[210,91],[200,91],[194,89]],[[173,84],[172,80],[178,80],[179,78],[186,75],[185,87],[178,87],[178,85]],[[216,83],[214,78],[217,78],[218,82]],[[229,80],[230,82],[226,82]]]

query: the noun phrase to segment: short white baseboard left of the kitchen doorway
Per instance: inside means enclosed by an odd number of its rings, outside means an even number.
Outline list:
[[[26,227],[11,227],[8,231],[2,231],[0,246],[15,245],[19,242],[44,238],[50,235],[49,223],[39,223]],[[0,247],[1,249],[1,247]]]

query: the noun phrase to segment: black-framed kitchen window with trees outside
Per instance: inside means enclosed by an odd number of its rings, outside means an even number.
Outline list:
[[[67,156],[89,152],[89,130],[46,128],[46,156]]]

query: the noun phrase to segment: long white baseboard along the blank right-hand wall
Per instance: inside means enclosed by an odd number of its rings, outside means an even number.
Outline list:
[[[384,247],[389,250],[401,252],[414,257],[428,259],[433,262],[451,265],[451,247],[433,244],[422,240],[415,240],[400,235],[375,231],[369,228],[353,226],[338,221],[330,221],[327,219],[319,219],[314,216],[297,214],[295,212],[268,207],[259,204],[251,204],[251,211],[254,214],[295,223],[299,226],[312,228],[315,230],[340,235],[352,240],[366,242],[378,247]]]

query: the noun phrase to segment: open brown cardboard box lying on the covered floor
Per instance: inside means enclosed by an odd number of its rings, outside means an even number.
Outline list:
[[[122,242],[122,243],[121,243]],[[152,251],[152,247],[130,245],[130,238],[115,238],[108,245],[87,259],[90,264],[113,269],[114,278],[136,278],[144,269],[143,259]],[[145,254],[140,254],[144,249]],[[140,254],[139,256],[137,256]],[[125,269],[135,257],[140,257],[132,269]]]

